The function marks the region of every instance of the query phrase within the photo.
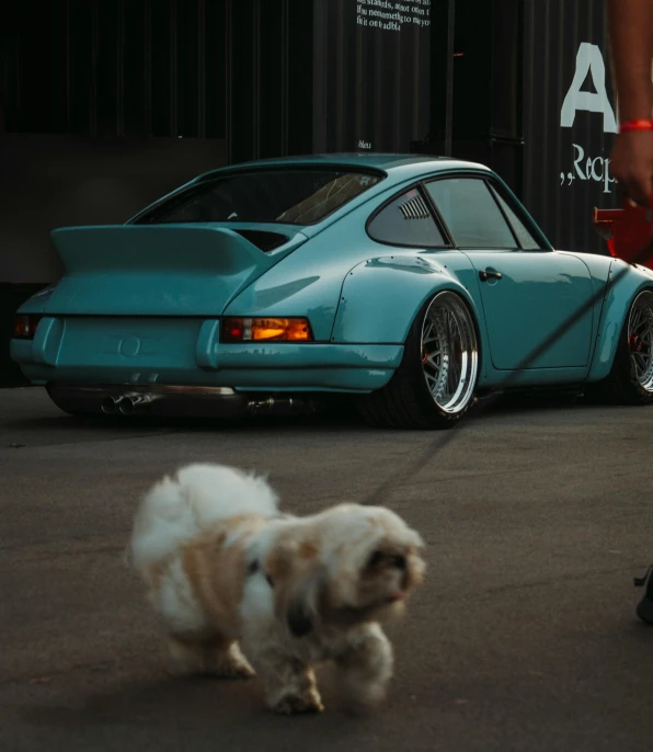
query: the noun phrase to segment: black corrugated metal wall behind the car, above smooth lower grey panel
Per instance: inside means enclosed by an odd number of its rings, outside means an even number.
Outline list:
[[[385,8],[368,0],[4,3],[0,123],[18,133],[224,139],[228,162],[408,151],[412,141],[443,153],[450,3],[403,0],[415,12],[399,30],[360,23],[363,10],[378,21],[373,12]],[[422,10],[429,25],[412,23]],[[600,113],[578,110],[568,127],[561,110],[582,45],[598,50],[603,70],[593,58],[581,91],[597,93],[600,78],[612,100],[604,16],[602,0],[456,0],[449,66],[454,155],[497,169],[555,244],[595,251],[592,208],[617,201],[606,179],[612,134]]]

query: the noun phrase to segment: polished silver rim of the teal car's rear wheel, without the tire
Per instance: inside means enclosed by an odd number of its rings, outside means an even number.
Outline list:
[[[421,337],[422,369],[433,401],[446,413],[465,410],[479,371],[477,332],[469,308],[456,293],[431,301]]]

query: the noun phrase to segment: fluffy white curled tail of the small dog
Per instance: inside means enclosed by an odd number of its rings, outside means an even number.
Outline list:
[[[218,520],[243,514],[277,514],[277,495],[265,478],[224,465],[186,466],[145,495],[127,560],[142,571]]]

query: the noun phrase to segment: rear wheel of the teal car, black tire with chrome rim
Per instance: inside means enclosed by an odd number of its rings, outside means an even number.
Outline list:
[[[478,376],[474,318],[459,295],[444,290],[417,314],[390,381],[358,409],[376,428],[449,429],[473,403]]]

